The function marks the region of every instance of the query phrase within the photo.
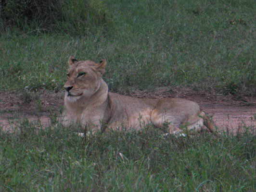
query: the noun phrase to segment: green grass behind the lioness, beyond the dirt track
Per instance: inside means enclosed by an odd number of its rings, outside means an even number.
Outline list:
[[[72,36],[74,31],[64,26],[62,32],[53,28],[47,34],[40,34],[40,28],[2,33],[1,90],[59,91],[67,59],[73,55],[78,60],[106,58],[103,78],[111,91],[119,93],[190,86],[256,94],[253,0],[104,3],[112,15],[106,30],[99,27]]]

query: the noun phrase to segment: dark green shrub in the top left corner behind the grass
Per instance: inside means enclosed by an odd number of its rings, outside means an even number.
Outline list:
[[[1,0],[1,29],[85,34],[111,23],[102,0]]]

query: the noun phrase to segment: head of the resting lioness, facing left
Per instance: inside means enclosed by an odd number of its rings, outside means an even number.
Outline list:
[[[64,84],[67,100],[76,102],[82,97],[92,96],[100,87],[106,60],[95,63],[91,60],[78,61],[70,56],[68,63],[67,81]]]

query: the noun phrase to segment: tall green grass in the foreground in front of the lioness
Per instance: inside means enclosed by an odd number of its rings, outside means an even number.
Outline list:
[[[55,123],[54,123],[55,124]],[[1,192],[253,192],[256,136],[175,137],[142,132],[78,136],[21,121],[0,132]]]

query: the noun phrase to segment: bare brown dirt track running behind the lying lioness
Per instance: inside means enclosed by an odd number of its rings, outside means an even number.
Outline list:
[[[197,102],[202,110],[213,115],[218,128],[223,131],[243,131],[244,125],[256,130],[256,97],[223,96],[216,92],[204,93],[187,89],[168,90],[165,87],[154,92],[135,91],[130,94],[139,98],[181,97]],[[52,114],[63,106],[64,92],[26,94],[0,93],[0,127],[13,129],[19,120],[40,121],[49,124]]]

